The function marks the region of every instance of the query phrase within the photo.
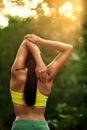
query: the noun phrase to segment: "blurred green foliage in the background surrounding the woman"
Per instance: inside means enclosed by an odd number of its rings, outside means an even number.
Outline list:
[[[40,16],[39,20],[20,20],[12,17],[9,19],[9,26],[0,30],[0,130],[9,130],[15,118],[9,92],[10,69],[23,37],[27,33],[35,33],[46,39],[69,42],[68,38],[60,38],[59,25],[53,24],[53,19],[49,17]],[[76,38],[74,42],[77,42]],[[51,130],[87,130],[86,43],[87,21],[84,20],[81,43],[74,43],[74,50],[56,76],[48,99],[45,116]],[[40,46],[40,49],[46,64],[57,53],[43,46]]]

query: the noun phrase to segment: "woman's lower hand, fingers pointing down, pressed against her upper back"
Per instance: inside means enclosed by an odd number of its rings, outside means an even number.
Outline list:
[[[36,65],[35,72],[37,79],[39,79],[41,82],[47,81],[47,67],[44,63],[42,65]]]

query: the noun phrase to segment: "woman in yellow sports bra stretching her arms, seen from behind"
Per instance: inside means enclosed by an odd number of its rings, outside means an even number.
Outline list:
[[[37,44],[60,51],[47,66]],[[53,79],[68,59],[72,45],[27,34],[11,69],[10,92],[16,119],[11,130],[49,130],[44,113]]]

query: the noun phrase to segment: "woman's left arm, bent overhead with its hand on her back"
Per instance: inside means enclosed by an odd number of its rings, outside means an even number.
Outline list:
[[[28,53],[31,53],[35,59],[36,62],[36,75],[40,80],[45,80],[45,75],[47,71],[47,67],[44,64],[41,55],[40,50],[37,47],[37,45],[31,43],[27,39],[24,39],[21,43],[14,64],[12,66],[12,73],[14,73],[17,70],[21,70],[22,68],[25,68],[25,61],[27,59]]]

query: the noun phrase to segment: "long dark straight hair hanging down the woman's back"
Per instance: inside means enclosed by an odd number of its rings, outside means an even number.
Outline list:
[[[24,101],[27,106],[33,106],[35,104],[37,89],[37,78],[35,73],[36,63],[31,54],[29,54],[28,60],[27,78],[24,87]]]

